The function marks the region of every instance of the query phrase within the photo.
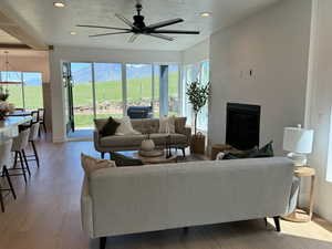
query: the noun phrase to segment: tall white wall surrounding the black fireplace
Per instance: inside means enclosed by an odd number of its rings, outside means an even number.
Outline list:
[[[258,104],[260,143],[282,153],[283,127],[304,122],[310,23],[311,0],[287,0],[211,35],[210,144],[225,143],[227,102]]]

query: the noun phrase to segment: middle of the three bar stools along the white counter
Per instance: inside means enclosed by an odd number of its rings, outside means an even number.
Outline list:
[[[25,184],[27,184],[25,170],[28,170],[29,176],[31,176],[29,164],[25,156],[25,151],[24,151],[29,143],[29,134],[30,134],[30,128],[25,128],[19,133],[19,136],[13,138],[11,152],[14,153],[14,165],[13,168],[9,168],[9,170],[22,170],[22,173],[10,174],[10,176],[23,176]],[[20,157],[20,164],[21,164],[20,169],[17,168],[18,157]],[[24,167],[24,163],[25,163],[25,167]]]

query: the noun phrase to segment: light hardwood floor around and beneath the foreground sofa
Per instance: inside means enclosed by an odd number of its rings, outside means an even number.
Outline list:
[[[39,143],[41,168],[33,166],[28,184],[14,180],[18,199],[7,199],[0,212],[0,249],[98,248],[81,230],[80,153],[98,156],[91,142]],[[32,164],[31,164],[32,165]],[[34,165],[34,163],[33,163]],[[107,249],[332,249],[331,224],[281,221],[282,232],[263,220],[222,224],[111,237]]]

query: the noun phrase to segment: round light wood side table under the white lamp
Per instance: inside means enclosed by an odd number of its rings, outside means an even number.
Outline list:
[[[309,222],[312,218],[315,170],[310,167],[297,167],[294,169],[294,175],[297,177],[311,177],[309,208],[308,211],[297,208],[292,214],[283,216],[282,218],[292,222]]]

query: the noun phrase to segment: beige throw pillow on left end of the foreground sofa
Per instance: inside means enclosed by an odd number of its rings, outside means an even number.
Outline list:
[[[83,153],[81,154],[81,164],[87,177],[97,169],[116,167],[113,160],[98,159]]]

